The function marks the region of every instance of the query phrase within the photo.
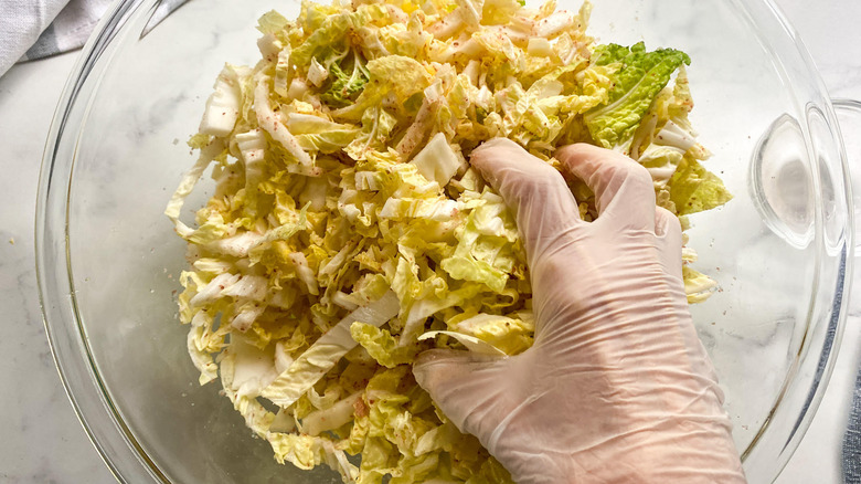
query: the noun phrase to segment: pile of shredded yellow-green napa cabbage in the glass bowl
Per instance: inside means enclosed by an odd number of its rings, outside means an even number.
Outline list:
[[[434,347],[532,344],[514,219],[467,162],[482,141],[555,167],[570,143],[621,151],[682,222],[730,199],[700,164],[688,56],[596,45],[591,9],[305,2],[295,21],[261,18],[257,65],[224,66],[166,211],[189,243],[180,318],[200,382],[221,377],[278,462],[357,483],[511,481],[411,371]],[[180,211],[209,167],[216,188],[190,227]],[[702,301],[715,283],[682,257]]]

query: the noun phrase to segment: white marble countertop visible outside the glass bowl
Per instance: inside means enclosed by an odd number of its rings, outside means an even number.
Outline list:
[[[861,2],[777,0],[835,97],[861,99]],[[115,482],[63,391],[42,325],[33,218],[39,165],[63,84],[78,52],[14,66],[0,78],[0,482]],[[846,137],[853,136],[844,133]],[[859,136],[855,134],[854,136]],[[855,295],[861,287],[855,287]],[[861,298],[853,296],[853,305]],[[858,308],[854,309],[858,314]],[[830,387],[777,482],[840,483],[840,443],[861,357],[861,319],[850,318]]]

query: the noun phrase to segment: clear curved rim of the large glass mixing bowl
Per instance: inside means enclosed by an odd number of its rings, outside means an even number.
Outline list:
[[[39,191],[35,213],[35,256],[36,277],[39,282],[40,302],[43,320],[47,333],[51,351],[54,357],[66,394],[84,430],[98,451],[99,455],[117,478],[126,482],[163,482],[170,480],[152,462],[142,446],[137,442],[131,430],[125,424],[118,409],[114,407],[108,397],[107,389],[98,375],[95,361],[84,337],[83,322],[78,315],[77,303],[74,294],[74,284],[71,278],[71,261],[67,253],[67,202],[71,185],[71,171],[74,165],[74,156],[65,156],[62,152],[64,144],[77,136],[72,122],[76,107],[81,103],[87,103],[97,91],[98,77],[103,65],[100,60],[109,57],[114,52],[115,39],[120,34],[132,19],[141,15],[149,18],[161,0],[116,0],[83,49],[81,57],[72,70],[70,78],[54,113],[49,130],[45,151],[40,171]],[[785,35],[797,50],[801,62],[807,67],[807,75],[811,76],[826,99],[823,107],[831,117],[833,108],[828,102],[823,83],[819,80],[818,71],[812,63],[806,48],[795,30],[780,13],[772,0],[732,0],[732,3],[745,11],[752,19],[752,24],[767,21],[779,28],[780,35]],[[745,6],[757,4],[755,13]],[[756,17],[756,19],[753,19]],[[764,19],[764,17],[768,17]],[[776,54],[775,54],[776,55]],[[95,83],[93,92],[87,92],[88,83]],[[72,122],[72,123],[71,123]],[[70,124],[71,123],[71,124]],[[835,124],[835,126],[837,126]],[[836,128],[837,129],[837,128]],[[842,141],[839,130],[833,133],[842,154]],[[74,145],[74,141],[72,141]],[[68,150],[68,149],[66,149]],[[74,149],[70,152],[73,155]],[[848,172],[843,156],[843,173]],[[60,176],[59,176],[60,175]],[[844,177],[846,200],[851,210],[851,190],[848,178]],[[847,299],[849,295],[849,282],[851,281],[853,227],[849,218],[846,228],[847,242],[843,255],[844,271],[841,281],[838,281],[836,297],[836,314],[833,322],[829,324],[823,334],[821,344],[822,354],[817,359],[819,366],[817,378],[809,390],[807,406],[800,409],[795,429],[789,433],[783,449],[777,456],[774,477],[789,460],[797,448],[805,431],[810,424],[816,408],[825,392],[826,383],[831,373],[833,361],[837,357],[843,319],[846,318]],[[57,236],[57,234],[62,234]],[[65,271],[65,272],[64,272]],[[839,307],[837,307],[839,306]],[[818,347],[818,346],[817,346]],[[751,446],[744,453],[746,455],[753,449],[763,433],[767,431],[768,422],[764,423],[759,435],[754,439]]]

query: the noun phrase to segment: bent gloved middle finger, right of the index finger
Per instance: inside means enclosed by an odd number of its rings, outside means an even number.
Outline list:
[[[630,227],[653,229],[655,188],[641,165],[583,143],[560,148],[555,157],[595,193],[598,217],[608,213]]]

